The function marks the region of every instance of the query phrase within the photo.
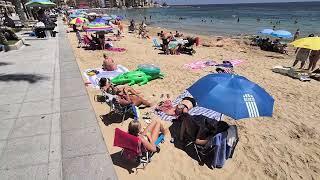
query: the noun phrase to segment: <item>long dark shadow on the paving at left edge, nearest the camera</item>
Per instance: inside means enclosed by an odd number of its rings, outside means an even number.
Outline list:
[[[27,81],[31,84],[40,80],[47,80],[49,77],[39,74],[0,74],[0,81]]]

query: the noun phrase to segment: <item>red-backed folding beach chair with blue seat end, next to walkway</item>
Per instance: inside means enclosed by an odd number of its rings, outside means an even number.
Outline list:
[[[160,143],[164,141],[164,135],[160,134],[155,145],[157,152],[160,151]],[[139,137],[133,136],[119,128],[115,129],[113,146],[122,148],[121,157],[126,160],[137,162],[138,167],[142,164],[143,168],[151,161],[154,152],[148,151],[141,143]],[[137,169],[138,169],[137,167]]]

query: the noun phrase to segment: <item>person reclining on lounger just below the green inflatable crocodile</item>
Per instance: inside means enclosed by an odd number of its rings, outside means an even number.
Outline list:
[[[100,89],[108,94],[114,95],[116,101],[121,105],[134,104],[135,106],[145,105],[150,107],[151,103],[143,99],[139,94],[140,92],[128,86],[113,86],[106,78],[101,78],[99,81]]]

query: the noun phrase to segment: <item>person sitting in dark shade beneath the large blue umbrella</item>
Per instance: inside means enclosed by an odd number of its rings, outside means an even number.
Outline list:
[[[178,120],[182,122],[179,140],[183,142],[187,137],[199,145],[207,144],[211,137],[229,128],[226,122],[216,121],[203,115],[191,116],[183,113]]]

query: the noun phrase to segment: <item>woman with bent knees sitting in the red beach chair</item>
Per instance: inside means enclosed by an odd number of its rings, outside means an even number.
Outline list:
[[[152,121],[144,130],[139,121],[133,120],[129,123],[128,133],[139,137],[142,145],[152,152],[157,151],[155,142],[157,141],[159,134],[163,133],[168,135],[169,131],[163,127],[160,121]]]

